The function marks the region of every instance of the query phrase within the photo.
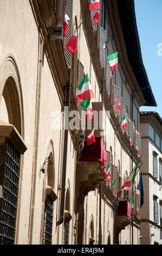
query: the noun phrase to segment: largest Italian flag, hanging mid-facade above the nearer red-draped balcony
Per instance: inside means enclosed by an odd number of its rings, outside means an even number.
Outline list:
[[[93,90],[90,86],[88,74],[83,78],[79,86],[76,88],[76,97],[79,103],[82,103],[83,101],[86,101],[95,97]]]

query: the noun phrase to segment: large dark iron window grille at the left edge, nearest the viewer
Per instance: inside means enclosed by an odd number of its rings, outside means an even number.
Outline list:
[[[15,237],[20,153],[18,153],[9,139],[7,139],[6,143],[4,161],[4,163],[1,163],[3,194],[2,198],[0,198],[0,244],[12,245]]]

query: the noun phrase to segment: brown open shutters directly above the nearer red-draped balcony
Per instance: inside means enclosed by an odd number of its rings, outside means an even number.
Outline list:
[[[86,130],[85,130],[85,136],[88,136],[89,133],[94,130],[94,136],[102,136],[103,130],[103,102],[92,102],[92,110],[93,110],[93,119],[92,122],[86,121]],[[91,127],[89,125],[92,124]]]

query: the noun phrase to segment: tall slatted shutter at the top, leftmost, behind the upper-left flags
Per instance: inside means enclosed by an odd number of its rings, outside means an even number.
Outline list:
[[[65,14],[69,16],[69,23],[68,23],[68,32],[66,37],[64,38],[64,57],[66,59],[66,63],[68,68],[70,68],[70,52],[67,49],[67,44],[69,40],[72,38],[72,7],[73,7],[73,0],[67,0]]]

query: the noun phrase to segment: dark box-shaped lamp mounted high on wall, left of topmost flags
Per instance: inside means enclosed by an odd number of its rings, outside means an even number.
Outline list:
[[[62,23],[60,23],[56,27],[47,28],[47,32],[48,32],[48,39],[49,40],[63,40]]]

